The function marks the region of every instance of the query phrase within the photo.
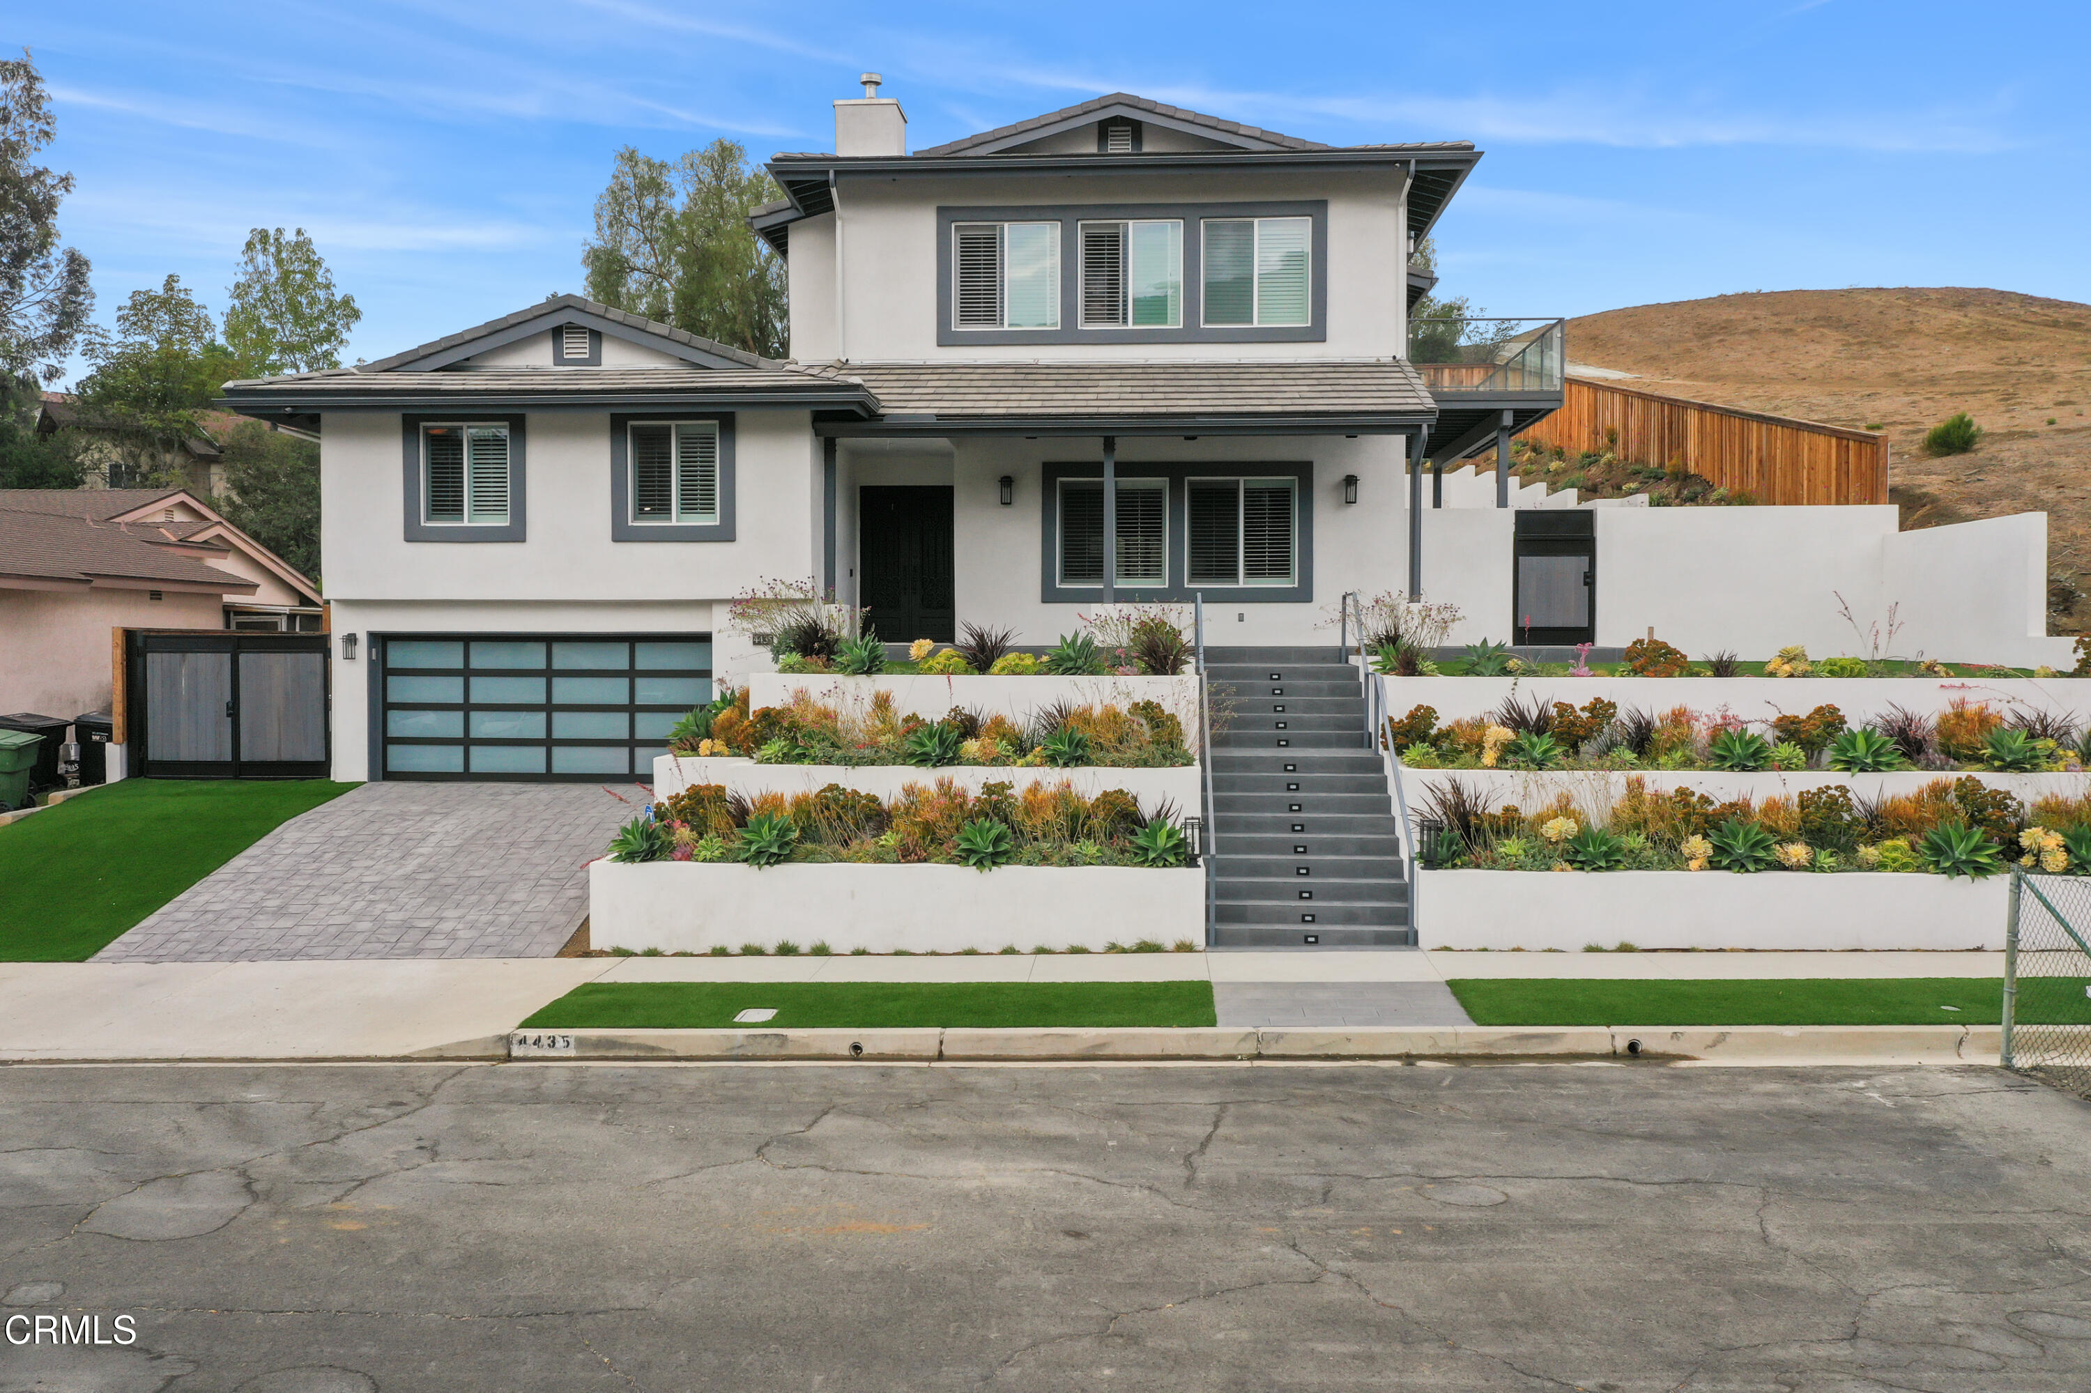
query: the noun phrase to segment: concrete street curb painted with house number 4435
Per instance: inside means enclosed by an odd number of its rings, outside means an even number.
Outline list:
[[[483,1042],[468,1042],[481,1046]],[[454,1046],[456,1048],[456,1046]],[[1445,1027],[1445,1029],[878,1029],[512,1031],[531,1060],[1533,1060],[1995,1065],[1995,1025]]]

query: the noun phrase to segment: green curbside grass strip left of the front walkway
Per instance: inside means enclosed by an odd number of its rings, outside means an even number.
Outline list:
[[[592,981],[523,1029],[723,1029],[751,1006],[763,1029],[989,1025],[1215,1025],[1209,981]]]

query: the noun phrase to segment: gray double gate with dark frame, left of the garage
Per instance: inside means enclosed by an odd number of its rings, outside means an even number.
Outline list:
[[[328,644],[326,634],[132,634],[132,772],[326,778]]]

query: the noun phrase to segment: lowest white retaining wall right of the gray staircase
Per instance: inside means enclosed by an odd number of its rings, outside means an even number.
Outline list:
[[[1424,870],[1424,947],[2003,947],[2009,876],[1765,870]],[[1480,968],[1476,968],[1480,970]]]

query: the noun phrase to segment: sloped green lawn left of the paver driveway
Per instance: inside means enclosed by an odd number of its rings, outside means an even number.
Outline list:
[[[82,962],[355,784],[128,778],[0,826],[0,962]]]

